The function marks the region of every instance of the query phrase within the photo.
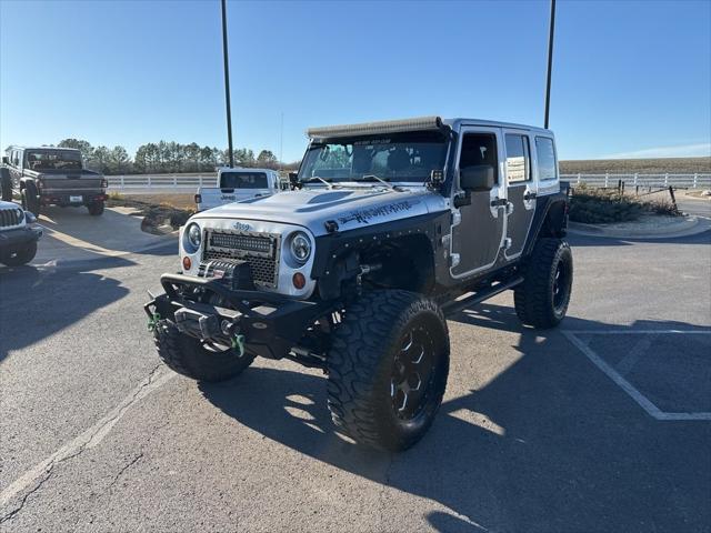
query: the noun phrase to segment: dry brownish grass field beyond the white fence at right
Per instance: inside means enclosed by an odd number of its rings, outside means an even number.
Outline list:
[[[561,174],[685,174],[711,173],[711,158],[591,159],[560,161]]]

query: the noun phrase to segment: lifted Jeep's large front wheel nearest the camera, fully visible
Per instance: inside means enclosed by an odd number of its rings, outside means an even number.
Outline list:
[[[333,423],[357,442],[401,451],[442,403],[449,333],[439,306],[407,291],[375,291],[348,306],[328,355]]]

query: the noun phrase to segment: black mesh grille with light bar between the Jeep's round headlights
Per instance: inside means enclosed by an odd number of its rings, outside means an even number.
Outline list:
[[[256,285],[277,288],[280,237],[239,230],[206,230],[203,261],[241,259],[252,269]]]

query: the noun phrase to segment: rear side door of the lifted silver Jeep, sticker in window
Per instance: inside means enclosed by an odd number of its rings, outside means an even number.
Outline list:
[[[531,164],[531,138],[527,131],[504,130],[507,195],[507,259],[521,255],[535,213],[538,182]]]

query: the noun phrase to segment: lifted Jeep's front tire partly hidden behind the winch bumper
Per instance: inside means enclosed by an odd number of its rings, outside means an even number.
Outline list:
[[[198,339],[184,335],[170,320],[161,320],[156,324],[153,339],[160,359],[179,374],[193,380],[229,380],[254,361],[254,355],[249,353],[239,356],[234,350],[212,349]]]

